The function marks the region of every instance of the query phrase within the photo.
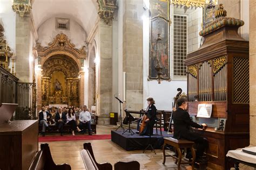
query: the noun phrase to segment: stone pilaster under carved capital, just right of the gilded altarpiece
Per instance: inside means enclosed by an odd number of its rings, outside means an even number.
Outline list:
[[[109,124],[112,111],[112,25],[103,19],[99,23],[100,61],[98,67],[99,124]]]

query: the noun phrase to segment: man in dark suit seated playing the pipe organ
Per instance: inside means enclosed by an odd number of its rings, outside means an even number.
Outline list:
[[[205,148],[208,145],[207,139],[200,137],[198,133],[192,131],[193,128],[205,129],[207,125],[205,123],[199,125],[193,122],[190,115],[186,111],[187,100],[186,98],[179,98],[177,101],[178,109],[173,112],[173,138],[186,139],[194,141],[197,144],[196,161],[206,161],[202,158]],[[192,158],[191,152],[188,150],[186,158]]]

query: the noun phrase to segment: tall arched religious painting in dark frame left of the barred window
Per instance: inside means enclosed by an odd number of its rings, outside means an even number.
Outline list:
[[[156,66],[160,65],[161,79],[170,80],[170,49],[169,49],[169,2],[161,0],[150,1],[150,56],[149,78],[159,79],[159,71]]]

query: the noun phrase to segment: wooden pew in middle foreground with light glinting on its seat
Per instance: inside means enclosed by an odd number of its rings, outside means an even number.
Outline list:
[[[95,160],[91,143],[84,143],[84,149],[80,151],[82,159],[84,161],[84,166],[86,169],[103,169],[103,170],[112,170],[112,165],[108,162],[103,164],[98,164]]]

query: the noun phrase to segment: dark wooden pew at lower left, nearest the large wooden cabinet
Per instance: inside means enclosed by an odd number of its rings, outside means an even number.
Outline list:
[[[62,164],[56,165],[52,160],[51,151],[48,144],[41,144],[41,151],[37,152],[33,159],[29,170],[71,170],[70,165]]]

